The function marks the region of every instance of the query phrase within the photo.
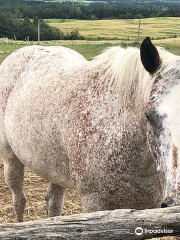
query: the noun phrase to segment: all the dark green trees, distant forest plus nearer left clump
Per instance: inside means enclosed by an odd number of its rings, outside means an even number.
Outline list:
[[[148,17],[180,17],[180,2],[112,1],[107,4],[81,5],[72,2],[56,3],[42,1],[0,0],[0,37],[37,40],[39,19],[133,19]],[[131,4],[130,4],[131,3]],[[154,2],[155,4],[155,2]],[[84,39],[77,30],[63,33],[41,20],[41,39]]]

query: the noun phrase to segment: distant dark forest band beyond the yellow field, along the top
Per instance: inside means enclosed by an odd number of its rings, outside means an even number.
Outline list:
[[[107,4],[81,5],[65,2],[42,2],[22,0],[0,0],[0,6],[17,18],[58,19],[133,19],[148,17],[180,17],[180,2],[166,1],[112,1]],[[108,3],[109,2],[109,3]]]

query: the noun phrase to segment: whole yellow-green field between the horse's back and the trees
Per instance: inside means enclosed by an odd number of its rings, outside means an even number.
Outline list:
[[[42,45],[62,45],[72,48],[88,60],[100,54],[113,45],[128,46],[137,39],[137,19],[114,20],[77,20],[45,19],[51,26],[56,26],[63,32],[78,29],[87,40],[77,41],[46,41]],[[176,37],[175,37],[176,35]],[[150,36],[156,45],[165,47],[168,51],[180,55],[180,18],[149,18],[141,24],[141,40]],[[98,40],[98,41],[97,41]],[[35,42],[0,41],[0,62],[14,50]]]

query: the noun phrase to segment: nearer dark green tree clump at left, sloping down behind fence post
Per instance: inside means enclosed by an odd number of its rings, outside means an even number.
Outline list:
[[[78,40],[84,39],[77,30],[64,34],[58,28],[49,26],[45,21],[40,20],[41,40]],[[17,17],[12,12],[5,12],[0,8],[0,37],[31,40],[38,39],[38,17],[30,20],[28,17]]]

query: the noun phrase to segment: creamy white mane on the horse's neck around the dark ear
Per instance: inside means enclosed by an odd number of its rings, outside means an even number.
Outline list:
[[[93,60],[93,64],[99,72],[105,74],[109,89],[115,88],[121,101],[126,102],[133,93],[137,93],[146,103],[157,75],[176,58],[163,48],[158,47],[158,51],[162,64],[153,76],[144,69],[138,48],[108,48]]]

